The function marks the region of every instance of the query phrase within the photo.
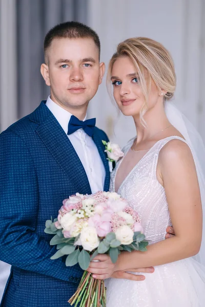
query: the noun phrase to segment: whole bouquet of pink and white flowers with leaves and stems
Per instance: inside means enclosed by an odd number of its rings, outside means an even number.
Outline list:
[[[104,280],[86,271],[90,261],[107,253],[115,263],[121,251],[146,251],[148,242],[142,231],[138,214],[115,192],[76,193],[64,200],[58,217],[46,221],[45,232],[54,234],[50,245],[56,245],[57,252],[51,259],[67,255],[66,266],[79,264],[85,270],[68,302],[80,307],[106,306]]]

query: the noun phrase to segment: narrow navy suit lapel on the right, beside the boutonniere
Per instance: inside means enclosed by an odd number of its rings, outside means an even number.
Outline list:
[[[103,145],[102,140],[100,138],[100,135],[97,133],[96,128],[94,130],[94,134],[93,134],[92,138],[93,138],[95,145],[97,146],[100,158],[103,161],[103,164],[104,164],[105,169],[106,169],[106,178],[105,178],[104,190],[109,191],[110,171],[109,171],[109,165],[108,165],[108,160],[107,160],[107,154],[105,152],[105,146]]]

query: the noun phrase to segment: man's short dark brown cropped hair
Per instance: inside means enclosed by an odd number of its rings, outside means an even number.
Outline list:
[[[67,21],[66,23],[61,23],[51,28],[46,34],[44,39],[44,55],[46,62],[48,62],[47,49],[50,47],[54,38],[92,38],[100,55],[100,41],[97,33],[87,25],[78,23],[78,21]]]

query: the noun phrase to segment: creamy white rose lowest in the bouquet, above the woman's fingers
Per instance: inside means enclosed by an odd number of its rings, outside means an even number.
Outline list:
[[[81,246],[83,246],[86,251],[91,252],[99,245],[97,231],[91,226],[88,226],[81,231],[79,239]]]

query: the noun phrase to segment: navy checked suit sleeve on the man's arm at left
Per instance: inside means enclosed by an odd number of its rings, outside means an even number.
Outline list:
[[[0,259],[68,281],[72,270],[61,258],[50,259],[56,248],[35,232],[38,181],[30,152],[16,134],[1,134],[0,161]]]

